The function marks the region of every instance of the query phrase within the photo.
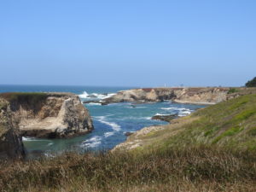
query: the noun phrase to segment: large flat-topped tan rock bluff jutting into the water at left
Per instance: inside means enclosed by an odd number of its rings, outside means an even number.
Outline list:
[[[6,93],[13,118],[26,137],[73,137],[93,129],[90,114],[72,93]]]

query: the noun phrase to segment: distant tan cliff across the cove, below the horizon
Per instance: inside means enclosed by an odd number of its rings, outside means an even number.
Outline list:
[[[153,88],[119,91],[115,96],[102,101],[112,102],[173,102],[214,104],[227,100],[230,88]]]

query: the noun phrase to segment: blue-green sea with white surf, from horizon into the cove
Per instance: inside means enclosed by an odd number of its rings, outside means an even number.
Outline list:
[[[35,92],[61,91],[79,95],[81,101],[103,99],[112,96],[119,90],[132,87],[90,87],[90,86],[34,86],[34,85],[0,85],[0,92]],[[172,102],[156,102],[133,105],[130,102],[113,103],[101,106],[96,103],[84,105],[93,119],[95,130],[91,133],[67,139],[38,139],[23,137],[28,154],[41,152],[44,154],[59,153],[67,150],[108,150],[125,141],[125,132],[133,132],[149,125],[166,125],[166,122],[152,120],[155,114],[178,113],[185,116],[193,113],[203,105],[178,104]]]

